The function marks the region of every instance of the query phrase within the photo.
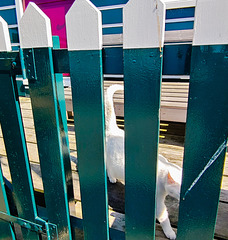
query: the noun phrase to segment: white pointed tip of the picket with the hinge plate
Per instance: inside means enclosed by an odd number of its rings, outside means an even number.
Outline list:
[[[29,3],[19,22],[21,48],[52,47],[50,19],[36,6]]]

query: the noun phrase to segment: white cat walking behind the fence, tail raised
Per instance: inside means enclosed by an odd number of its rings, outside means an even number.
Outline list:
[[[125,182],[124,131],[116,124],[113,95],[123,90],[121,85],[110,86],[105,93],[106,167],[110,182]],[[170,195],[179,200],[182,169],[159,155],[157,163],[156,218],[169,239],[176,239],[168,218],[165,198]]]

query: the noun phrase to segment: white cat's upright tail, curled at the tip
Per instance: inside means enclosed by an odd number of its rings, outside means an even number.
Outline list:
[[[113,103],[113,95],[116,91],[124,90],[122,85],[115,84],[107,88],[105,92],[105,126],[106,131],[114,130],[118,128],[116,124],[116,114]]]

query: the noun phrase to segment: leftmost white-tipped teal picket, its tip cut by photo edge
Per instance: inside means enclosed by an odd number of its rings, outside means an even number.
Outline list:
[[[23,123],[17,96],[16,76],[11,75],[18,62],[11,52],[11,43],[7,23],[0,17],[0,124],[6,147],[7,158],[15,194],[15,204],[20,218],[36,222],[37,211],[33,192],[32,177],[25,143]],[[2,176],[1,176],[2,178]],[[1,185],[3,184],[1,179]],[[3,198],[6,201],[2,185]],[[2,197],[2,196],[1,196]],[[0,198],[1,198],[0,197]],[[6,203],[5,203],[6,204]],[[8,209],[2,205],[1,211]],[[4,211],[5,212],[5,211]],[[6,211],[10,214],[9,210]],[[11,227],[10,227],[11,229]],[[11,230],[12,231],[12,230]],[[3,233],[4,231],[1,231]],[[37,233],[22,228],[24,239],[38,239]],[[14,236],[13,236],[14,238]]]

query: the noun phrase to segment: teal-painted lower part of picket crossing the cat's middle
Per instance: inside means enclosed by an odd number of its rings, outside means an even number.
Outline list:
[[[125,218],[131,240],[155,238],[161,69],[159,49],[124,50]]]

